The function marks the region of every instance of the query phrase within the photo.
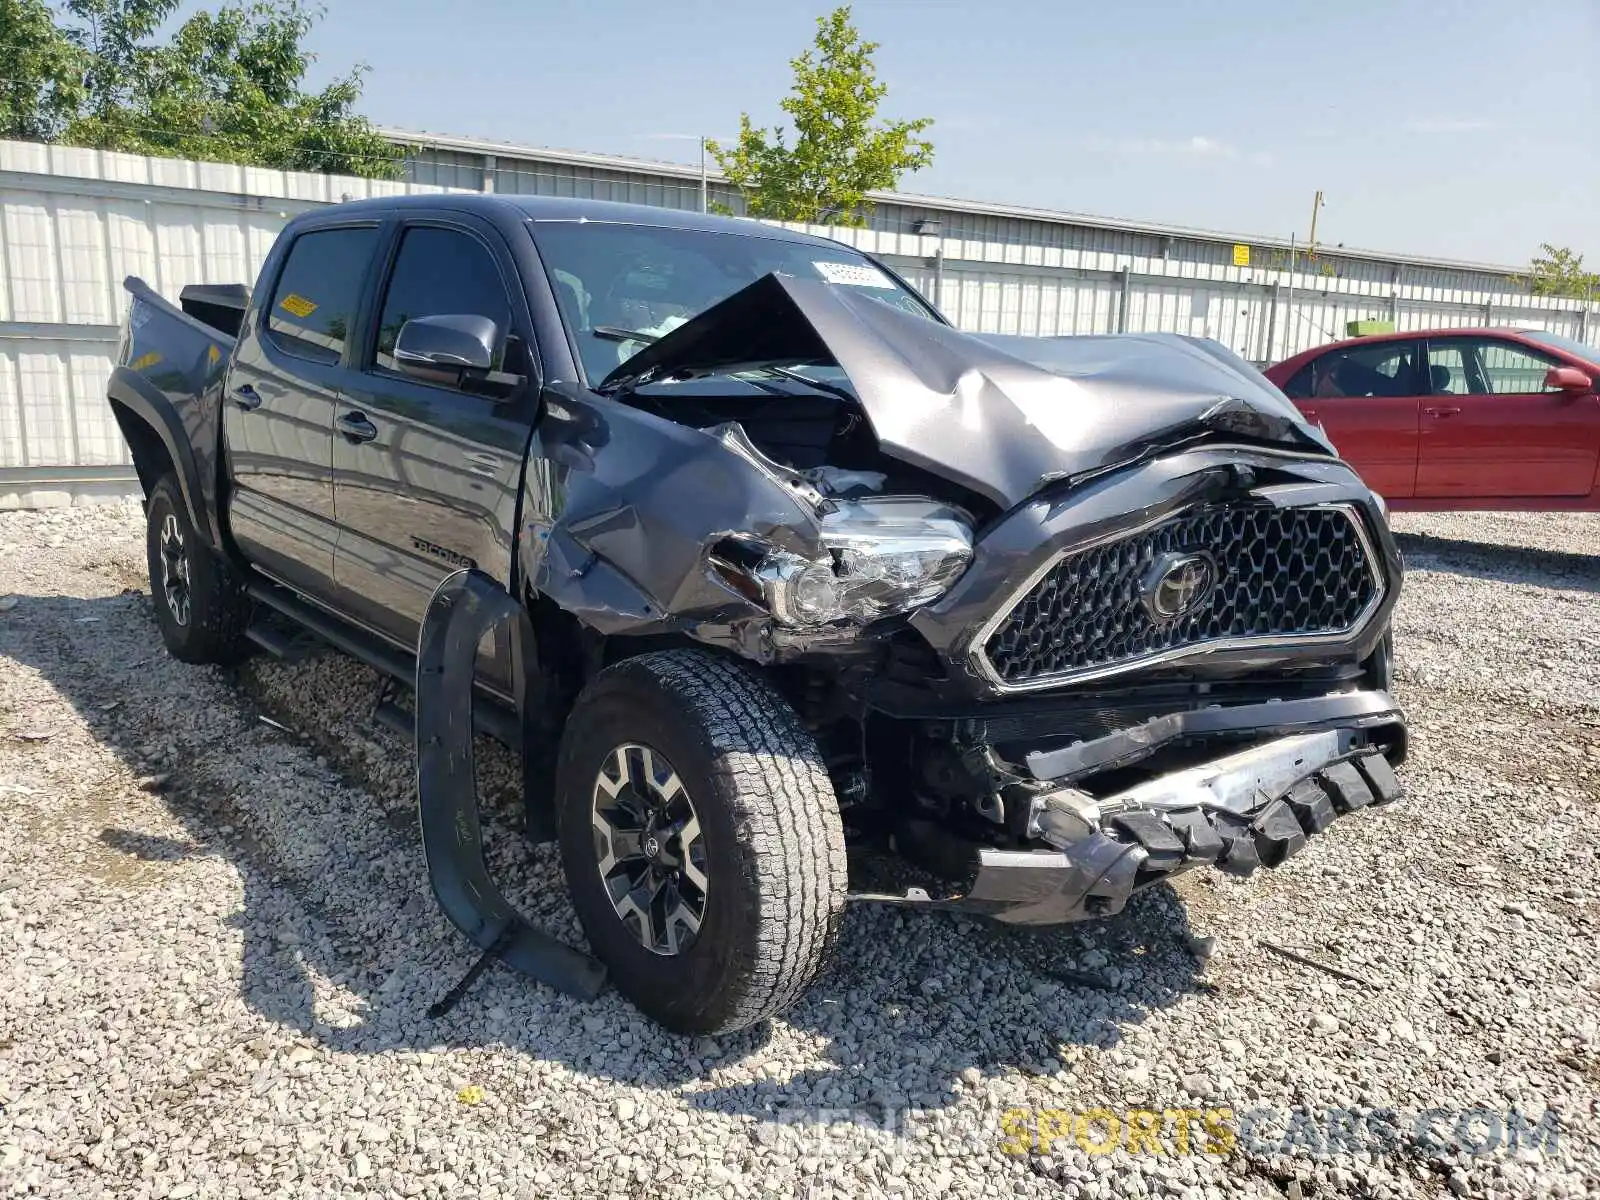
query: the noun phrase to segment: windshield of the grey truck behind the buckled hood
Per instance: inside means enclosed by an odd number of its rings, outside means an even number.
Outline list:
[[[755,280],[778,272],[859,288],[933,320],[922,299],[848,246],[602,221],[533,221],[562,320],[592,382],[677,326]],[[597,333],[598,331],[598,333]],[[622,334],[640,333],[642,339]]]

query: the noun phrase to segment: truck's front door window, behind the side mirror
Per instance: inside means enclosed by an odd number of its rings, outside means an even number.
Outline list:
[[[510,330],[510,301],[494,256],[470,234],[414,226],[400,238],[400,253],[384,288],[373,347],[376,366],[397,370],[394,350],[402,325],[418,317],[443,315],[488,317],[494,322],[499,330],[494,370],[501,368]]]

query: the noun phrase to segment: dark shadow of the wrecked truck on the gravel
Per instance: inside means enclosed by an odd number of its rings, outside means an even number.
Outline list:
[[[90,627],[98,629],[93,638]],[[504,968],[486,973],[450,1016],[429,1021],[427,1006],[475,954],[434,906],[414,821],[400,806],[357,794],[382,810],[365,816],[384,842],[373,858],[333,854],[307,872],[274,837],[294,829],[296,837],[339,842],[341,830],[326,821],[331,810],[310,811],[309,797],[341,782],[317,765],[315,747],[291,744],[259,722],[237,677],[170,661],[142,594],[21,597],[0,622],[0,654],[42,672],[133,774],[170,776],[146,786],[182,824],[184,838],[138,832],[115,813],[93,835],[144,862],[226,856],[243,888],[230,922],[243,934],[246,1005],[333,1051],[504,1048],[645,1088],[694,1083],[712,1066],[781,1058],[790,1067],[786,1078],[746,1072],[728,1085],[686,1090],[685,1099],[760,1122],[806,1123],[829,1109],[837,1118],[838,1109],[942,1107],[957,1099],[968,1069],[1054,1070],[1062,1045],[1114,1045],[1125,1026],[1208,989],[1187,949],[1187,910],[1163,885],[1115,918],[1040,931],[853,907],[838,966],[784,1018],[798,1038],[778,1037],[771,1026],[715,1043],[677,1037],[614,992],[582,1005]],[[502,843],[491,845],[499,870],[509,864],[528,880],[520,898],[534,923],[546,914],[530,898],[570,914],[554,851],[520,842],[499,813],[485,813],[485,826]],[[339,997],[336,1016],[330,992]]]

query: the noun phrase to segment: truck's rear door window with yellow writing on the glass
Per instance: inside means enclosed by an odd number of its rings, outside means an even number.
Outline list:
[[[318,229],[290,246],[266,336],[285,354],[336,363],[362,294],[362,280],[378,246],[378,229]]]

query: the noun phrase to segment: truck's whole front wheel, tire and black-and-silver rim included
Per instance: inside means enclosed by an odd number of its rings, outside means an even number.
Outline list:
[[[557,819],[589,944],[662,1026],[741,1029],[827,965],[838,803],[794,709],[742,664],[669,650],[597,675],[562,739]]]

